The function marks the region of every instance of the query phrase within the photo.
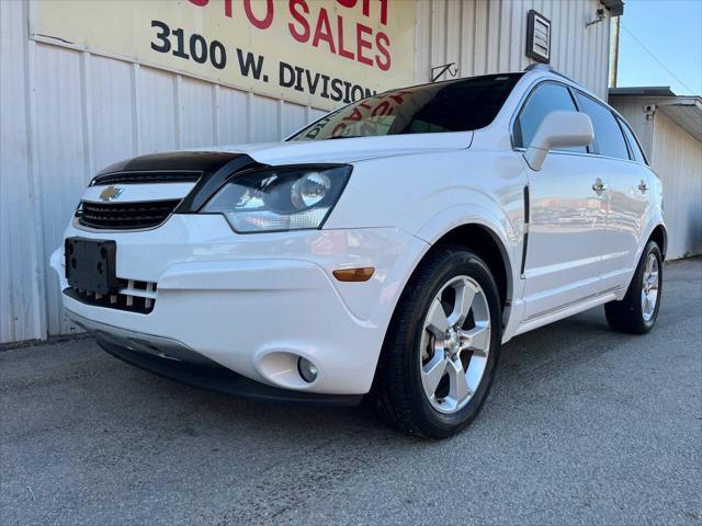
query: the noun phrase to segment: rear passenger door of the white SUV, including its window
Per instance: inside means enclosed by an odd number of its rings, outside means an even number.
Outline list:
[[[597,161],[608,181],[607,232],[601,278],[604,290],[625,286],[636,265],[648,208],[646,169],[636,162],[641,151],[625,138],[626,125],[603,103],[576,92],[580,111],[592,119]],[[633,139],[633,135],[632,135]]]

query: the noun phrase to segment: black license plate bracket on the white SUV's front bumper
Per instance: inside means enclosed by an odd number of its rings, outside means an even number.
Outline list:
[[[115,273],[117,243],[101,239],[67,238],[66,279],[79,290],[114,294],[120,288]]]

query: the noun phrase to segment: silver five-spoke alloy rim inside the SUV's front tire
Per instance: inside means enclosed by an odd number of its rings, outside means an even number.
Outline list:
[[[490,310],[468,276],[448,282],[432,300],[421,336],[421,382],[431,405],[446,414],[465,407],[480,385],[490,352]]]

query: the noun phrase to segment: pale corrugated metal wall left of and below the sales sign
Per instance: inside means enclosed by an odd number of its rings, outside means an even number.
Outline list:
[[[325,112],[27,38],[0,1],[0,343],[75,331],[48,256],[92,174],[178,148],[278,140]]]

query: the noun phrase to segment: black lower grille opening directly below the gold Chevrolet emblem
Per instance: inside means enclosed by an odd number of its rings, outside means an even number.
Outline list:
[[[86,227],[101,230],[138,230],[157,227],[176,209],[180,199],[143,203],[91,203],[83,201],[76,217]]]

